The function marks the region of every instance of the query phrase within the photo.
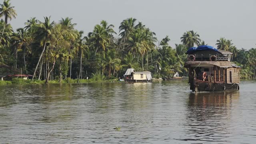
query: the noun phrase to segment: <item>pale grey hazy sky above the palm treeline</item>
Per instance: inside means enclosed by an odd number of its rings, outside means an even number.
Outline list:
[[[120,22],[133,17],[156,32],[158,40],[168,35],[172,47],[180,43],[187,30],[198,32],[211,46],[224,36],[237,48],[256,47],[256,0],[11,0],[11,3],[18,14],[11,21],[14,29],[24,27],[30,17],[42,21],[43,16],[52,16],[58,22],[68,16],[86,35],[101,20],[114,24],[118,33]]]

